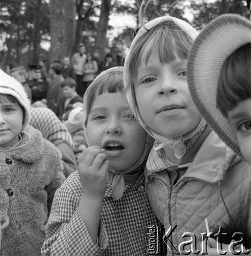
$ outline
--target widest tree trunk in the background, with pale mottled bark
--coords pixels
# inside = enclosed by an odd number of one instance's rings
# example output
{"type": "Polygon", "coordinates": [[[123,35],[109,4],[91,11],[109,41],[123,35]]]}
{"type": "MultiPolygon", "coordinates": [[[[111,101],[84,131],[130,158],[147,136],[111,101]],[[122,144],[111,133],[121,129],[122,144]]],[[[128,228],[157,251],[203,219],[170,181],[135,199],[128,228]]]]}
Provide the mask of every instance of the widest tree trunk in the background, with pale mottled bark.
{"type": "Polygon", "coordinates": [[[52,63],[71,55],[76,30],[75,0],[51,0],[51,49],[52,63]]]}

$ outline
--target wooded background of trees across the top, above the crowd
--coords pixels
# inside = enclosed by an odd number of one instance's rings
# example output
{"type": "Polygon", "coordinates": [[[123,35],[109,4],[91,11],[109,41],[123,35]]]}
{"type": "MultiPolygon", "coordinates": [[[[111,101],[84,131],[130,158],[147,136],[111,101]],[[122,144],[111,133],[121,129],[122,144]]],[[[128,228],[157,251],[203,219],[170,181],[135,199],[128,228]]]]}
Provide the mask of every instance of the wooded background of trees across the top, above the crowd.
{"type": "MultiPolygon", "coordinates": [[[[136,28],[125,28],[113,39],[114,51],[126,51],[139,25],[138,12],[142,0],[1,0],[0,2],[0,63],[16,61],[23,65],[48,56],[41,42],[51,43],[50,61],[77,51],[80,42],[87,49],[108,45],[107,31],[111,14],[129,14],[135,18],[136,28]],[[57,6],[57,8],[54,8],[57,6]],[[74,8],[73,8],[74,7],[74,8]],[[76,24],[75,24],[76,22],[76,24]]],[[[162,15],[185,18],[185,10],[193,13],[191,25],[203,28],[222,13],[238,13],[249,17],[246,1],[216,0],[153,0],[152,19],[156,11],[162,15]]],[[[43,45],[43,44],[42,44],[43,45]]]]}

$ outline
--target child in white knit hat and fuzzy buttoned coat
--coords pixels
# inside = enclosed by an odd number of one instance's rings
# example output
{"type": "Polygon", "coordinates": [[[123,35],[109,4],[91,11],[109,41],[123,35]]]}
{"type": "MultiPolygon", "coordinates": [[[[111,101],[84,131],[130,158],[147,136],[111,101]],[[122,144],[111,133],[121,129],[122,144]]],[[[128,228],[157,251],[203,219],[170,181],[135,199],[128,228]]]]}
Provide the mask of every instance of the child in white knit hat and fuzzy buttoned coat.
{"type": "Polygon", "coordinates": [[[64,182],[61,153],[29,125],[30,100],[0,70],[0,251],[41,255],[57,188],[64,182]]]}

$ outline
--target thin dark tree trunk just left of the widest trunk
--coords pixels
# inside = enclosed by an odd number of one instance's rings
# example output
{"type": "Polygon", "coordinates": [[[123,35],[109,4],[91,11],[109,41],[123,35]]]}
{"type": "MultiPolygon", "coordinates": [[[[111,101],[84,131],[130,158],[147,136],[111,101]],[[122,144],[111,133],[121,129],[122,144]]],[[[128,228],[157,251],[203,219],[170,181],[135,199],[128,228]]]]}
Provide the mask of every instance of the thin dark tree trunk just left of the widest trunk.
{"type": "Polygon", "coordinates": [[[36,64],[39,61],[39,49],[40,49],[40,20],[41,20],[41,0],[37,0],[37,9],[34,21],[33,32],[33,50],[32,50],[32,63],[36,64]]]}

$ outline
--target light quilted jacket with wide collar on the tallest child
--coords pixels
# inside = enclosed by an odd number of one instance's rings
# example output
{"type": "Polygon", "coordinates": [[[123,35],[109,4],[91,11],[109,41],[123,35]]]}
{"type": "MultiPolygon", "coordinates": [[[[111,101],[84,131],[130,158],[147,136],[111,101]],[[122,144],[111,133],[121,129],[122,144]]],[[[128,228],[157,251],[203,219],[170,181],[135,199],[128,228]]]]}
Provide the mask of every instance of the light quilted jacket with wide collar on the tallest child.
{"type": "MultiPolygon", "coordinates": [[[[178,172],[182,168],[178,166],[178,172]]],[[[192,252],[196,252],[195,245],[199,250],[201,233],[206,232],[205,218],[214,234],[216,227],[228,228],[232,224],[235,231],[244,231],[250,241],[251,166],[236,156],[214,131],[173,187],[168,169],[146,169],[145,175],[150,204],[165,225],[166,237],[171,233],[165,239],[168,255],[191,249],[191,245],[181,246],[191,240],[190,236],[183,236],[185,232],[193,233],[197,239],[196,243],[193,240],[192,252]]]]}

